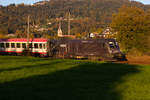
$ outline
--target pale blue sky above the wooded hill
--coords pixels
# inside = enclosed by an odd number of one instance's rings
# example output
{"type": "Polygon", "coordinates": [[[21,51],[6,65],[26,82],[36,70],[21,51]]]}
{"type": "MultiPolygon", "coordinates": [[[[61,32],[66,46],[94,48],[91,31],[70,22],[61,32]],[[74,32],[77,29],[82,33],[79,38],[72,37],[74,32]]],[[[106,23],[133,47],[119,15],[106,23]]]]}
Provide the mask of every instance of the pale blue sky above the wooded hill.
{"type": "MultiPolygon", "coordinates": [[[[9,4],[15,3],[15,4],[20,4],[20,3],[25,3],[25,4],[33,4],[35,2],[42,1],[42,0],[0,0],[0,5],[7,6],[9,4]]],[[[140,1],[144,4],[150,4],[150,0],[135,0],[135,1],[140,1]]]]}

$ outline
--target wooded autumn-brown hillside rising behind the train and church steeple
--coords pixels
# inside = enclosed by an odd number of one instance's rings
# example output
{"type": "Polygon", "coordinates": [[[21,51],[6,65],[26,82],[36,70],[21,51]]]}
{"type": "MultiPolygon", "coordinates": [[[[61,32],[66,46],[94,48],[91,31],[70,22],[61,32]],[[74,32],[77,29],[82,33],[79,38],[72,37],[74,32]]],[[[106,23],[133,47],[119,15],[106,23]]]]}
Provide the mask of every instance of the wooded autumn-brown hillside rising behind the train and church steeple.
{"type": "Polygon", "coordinates": [[[27,16],[30,15],[31,31],[35,26],[47,28],[49,35],[55,35],[58,18],[62,17],[62,30],[67,33],[67,16],[71,13],[71,34],[86,34],[105,28],[112,21],[112,14],[118,12],[122,5],[137,6],[147,10],[139,2],[128,0],[50,0],[44,5],[11,4],[0,7],[0,34],[26,33],[27,16]],[[50,24],[48,24],[50,23],[50,24]]]}

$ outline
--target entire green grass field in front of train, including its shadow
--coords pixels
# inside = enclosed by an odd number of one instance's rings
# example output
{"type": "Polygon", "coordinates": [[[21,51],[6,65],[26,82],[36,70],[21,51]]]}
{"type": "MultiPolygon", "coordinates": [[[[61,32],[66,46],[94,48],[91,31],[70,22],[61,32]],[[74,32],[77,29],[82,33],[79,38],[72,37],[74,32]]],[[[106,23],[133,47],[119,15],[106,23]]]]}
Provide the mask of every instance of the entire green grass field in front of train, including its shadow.
{"type": "Polygon", "coordinates": [[[150,65],[0,56],[0,100],[150,100],[150,65]]]}

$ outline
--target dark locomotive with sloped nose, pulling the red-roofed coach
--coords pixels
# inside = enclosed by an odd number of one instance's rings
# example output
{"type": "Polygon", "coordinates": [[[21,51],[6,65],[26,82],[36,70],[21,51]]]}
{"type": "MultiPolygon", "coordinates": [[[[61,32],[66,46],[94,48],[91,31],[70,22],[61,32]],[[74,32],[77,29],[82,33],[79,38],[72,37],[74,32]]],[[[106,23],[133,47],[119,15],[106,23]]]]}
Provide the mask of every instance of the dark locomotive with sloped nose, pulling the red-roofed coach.
{"type": "Polygon", "coordinates": [[[106,61],[127,60],[115,39],[61,39],[49,41],[49,56],[106,61]]]}

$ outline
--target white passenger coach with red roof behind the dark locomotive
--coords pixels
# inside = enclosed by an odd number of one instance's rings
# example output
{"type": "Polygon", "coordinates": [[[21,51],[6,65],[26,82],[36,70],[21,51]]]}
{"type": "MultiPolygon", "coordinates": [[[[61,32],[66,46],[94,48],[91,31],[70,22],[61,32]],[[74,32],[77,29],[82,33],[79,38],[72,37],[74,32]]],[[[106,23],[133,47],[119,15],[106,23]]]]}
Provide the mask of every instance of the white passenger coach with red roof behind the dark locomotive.
{"type": "MultiPolygon", "coordinates": [[[[32,55],[47,56],[48,39],[30,39],[29,50],[32,55]]],[[[21,55],[27,50],[27,39],[0,39],[0,54],[21,55]]]]}

